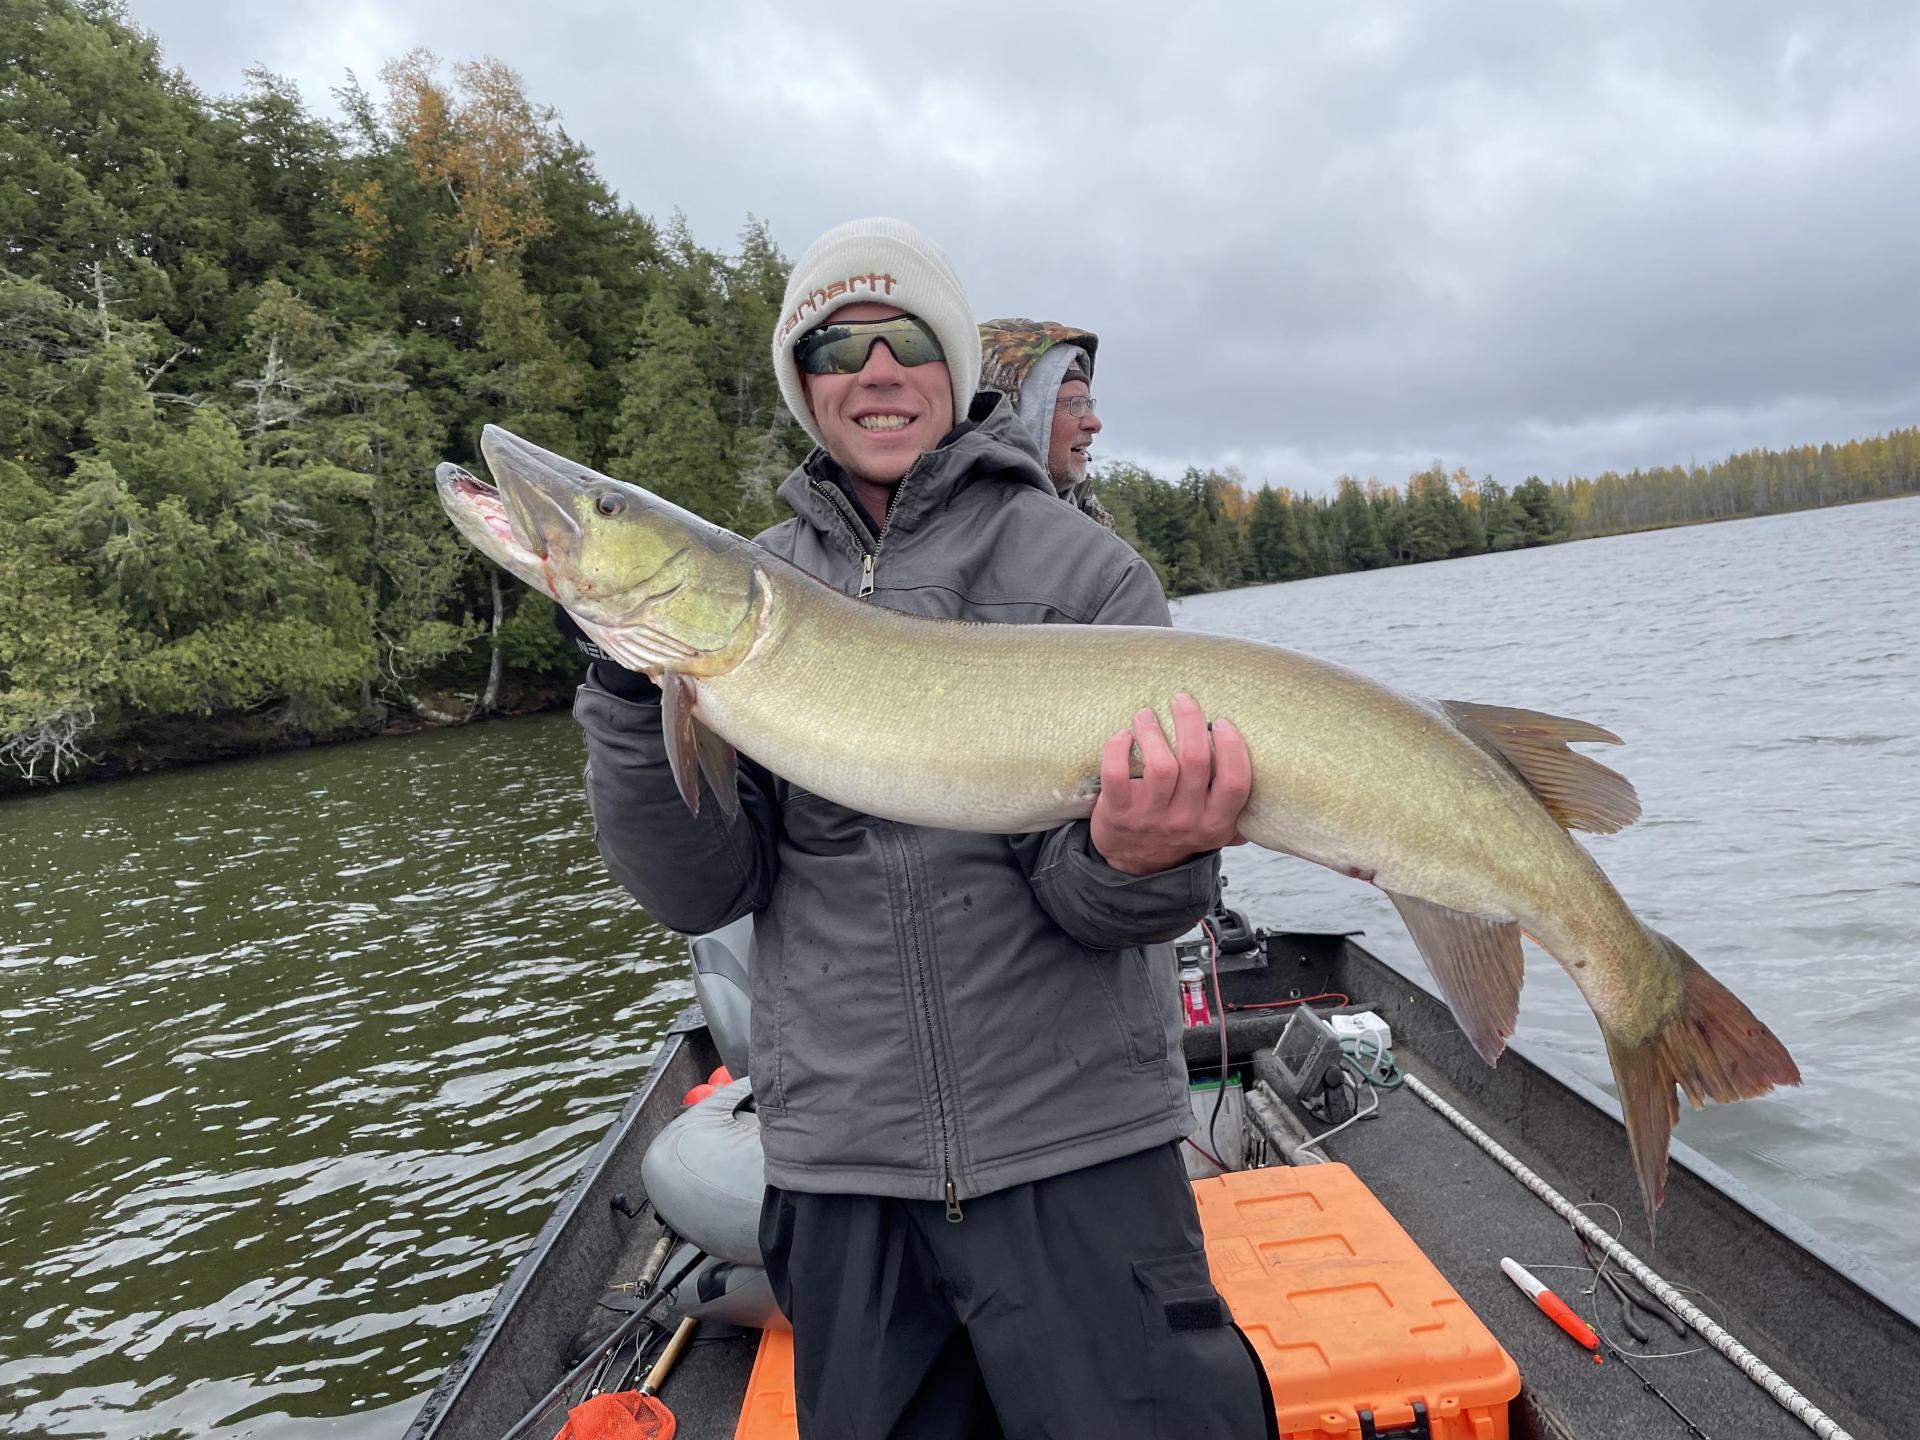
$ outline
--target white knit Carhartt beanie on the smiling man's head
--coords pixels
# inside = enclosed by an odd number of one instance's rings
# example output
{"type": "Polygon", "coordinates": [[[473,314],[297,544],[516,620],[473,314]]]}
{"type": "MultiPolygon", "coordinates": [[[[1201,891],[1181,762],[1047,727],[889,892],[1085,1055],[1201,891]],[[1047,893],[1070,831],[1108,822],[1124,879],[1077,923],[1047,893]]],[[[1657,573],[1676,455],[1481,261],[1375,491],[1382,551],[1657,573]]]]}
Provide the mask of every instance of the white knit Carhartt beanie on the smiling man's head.
{"type": "Polygon", "coordinates": [[[954,424],[966,419],[979,388],[979,328],[966,288],[947,252],[906,221],[874,217],[835,225],[814,240],[787,276],[787,296],[774,324],[774,374],[793,419],[824,445],[801,386],[793,346],[841,305],[876,301],[918,317],[947,351],[954,384],[954,424]]]}

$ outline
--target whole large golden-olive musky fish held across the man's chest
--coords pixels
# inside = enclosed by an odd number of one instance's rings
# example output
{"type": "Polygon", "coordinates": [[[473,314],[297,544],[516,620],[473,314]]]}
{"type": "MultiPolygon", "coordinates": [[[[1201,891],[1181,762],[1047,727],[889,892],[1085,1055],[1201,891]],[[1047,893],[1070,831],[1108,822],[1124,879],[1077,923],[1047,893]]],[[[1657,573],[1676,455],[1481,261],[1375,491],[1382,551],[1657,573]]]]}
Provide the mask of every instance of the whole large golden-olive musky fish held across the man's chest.
{"type": "Polygon", "coordinates": [[[1496,1062],[1521,998],[1521,933],[1572,975],[1607,1039],[1651,1223],[1695,1106],[1797,1085],[1786,1046],[1644,925],[1569,828],[1640,803],[1532,710],[1402,695],[1250,639],[1140,626],[998,626],[899,614],[829,589],[639,486],[488,426],[497,490],[440,467],[484,555],[551,595],[664,693],[687,804],[737,804],[733,753],[868,814],[1044,829],[1092,810],[1100,747],[1175,691],[1246,735],[1240,833],[1386,891],[1475,1048],[1496,1062]]]}

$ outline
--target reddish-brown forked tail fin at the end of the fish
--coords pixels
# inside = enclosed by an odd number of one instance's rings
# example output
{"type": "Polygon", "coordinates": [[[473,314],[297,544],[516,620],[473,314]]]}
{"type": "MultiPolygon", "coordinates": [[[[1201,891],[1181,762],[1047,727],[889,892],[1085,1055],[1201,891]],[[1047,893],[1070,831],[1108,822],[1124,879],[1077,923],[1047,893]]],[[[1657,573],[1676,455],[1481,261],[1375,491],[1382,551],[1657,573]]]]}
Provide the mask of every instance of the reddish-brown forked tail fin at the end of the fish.
{"type": "Polygon", "coordinates": [[[1620,1087],[1626,1142],[1651,1233],[1653,1212],[1667,1198],[1667,1148],[1680,1119],[1674,1087],[1699,1110],[1707,1100],[1747,1100],[1776,1085],[1799,1085],[1801,1075],[1788,1048],[1738,995],[1657,929],[1647,935],[1680,972],[1680,1008],[1640,1043],[1605,1025],[1601,1033],[1620,1087]]]}

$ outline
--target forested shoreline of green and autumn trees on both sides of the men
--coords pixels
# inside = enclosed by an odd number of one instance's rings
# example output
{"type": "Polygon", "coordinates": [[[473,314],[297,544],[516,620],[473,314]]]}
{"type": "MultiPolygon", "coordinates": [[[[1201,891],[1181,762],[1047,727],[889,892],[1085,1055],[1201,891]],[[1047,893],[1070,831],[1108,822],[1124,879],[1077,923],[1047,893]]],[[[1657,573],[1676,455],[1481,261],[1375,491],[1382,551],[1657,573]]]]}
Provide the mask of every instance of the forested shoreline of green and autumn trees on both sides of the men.
{"type": "MultiPolygon", "coordinates": [[[[564,695],[547,601],[434,501],[486,420],[778,518],[766,225],[620,204],[503,65],[403,56],[332,123],[198,94],[111,0],[13,0],[0,54],[0,787],[564,695]]],[[[1511,493],[1100,478],[1175,593],[1916,488],[1910,430],[1511,493]]]]}

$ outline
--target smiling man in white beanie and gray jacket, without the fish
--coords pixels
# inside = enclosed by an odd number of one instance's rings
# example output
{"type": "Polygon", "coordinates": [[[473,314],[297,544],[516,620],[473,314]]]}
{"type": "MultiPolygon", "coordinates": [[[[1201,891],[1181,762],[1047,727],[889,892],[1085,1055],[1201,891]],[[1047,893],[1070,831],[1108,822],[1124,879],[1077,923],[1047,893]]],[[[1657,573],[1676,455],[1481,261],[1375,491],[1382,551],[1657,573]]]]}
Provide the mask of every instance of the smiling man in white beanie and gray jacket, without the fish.
{"type": "MultiPolygon", "coordinates": [[[[843,225],[781,311],[781,394],[820,447],[760,545],[910,614],[1169,624],[1146,563],[1060,503],[1004,396],[975,394],[979,332],[937,246],[843,225]]],[[[881,820],[745,758],[737,806],[693,814],[659,687],[611,657],[576,714],[614,876],[674,929],[755,916],[760,1240],[803,1436],[1265,1434],[1177,1152],[1167,954],[1236,839],[1240,733],[1175,695],[1169,743],[1140,708],[1087,820],[998,835],[881,820]]],[[[843,716],[858,733],[858,689],[843,716]]]]}

